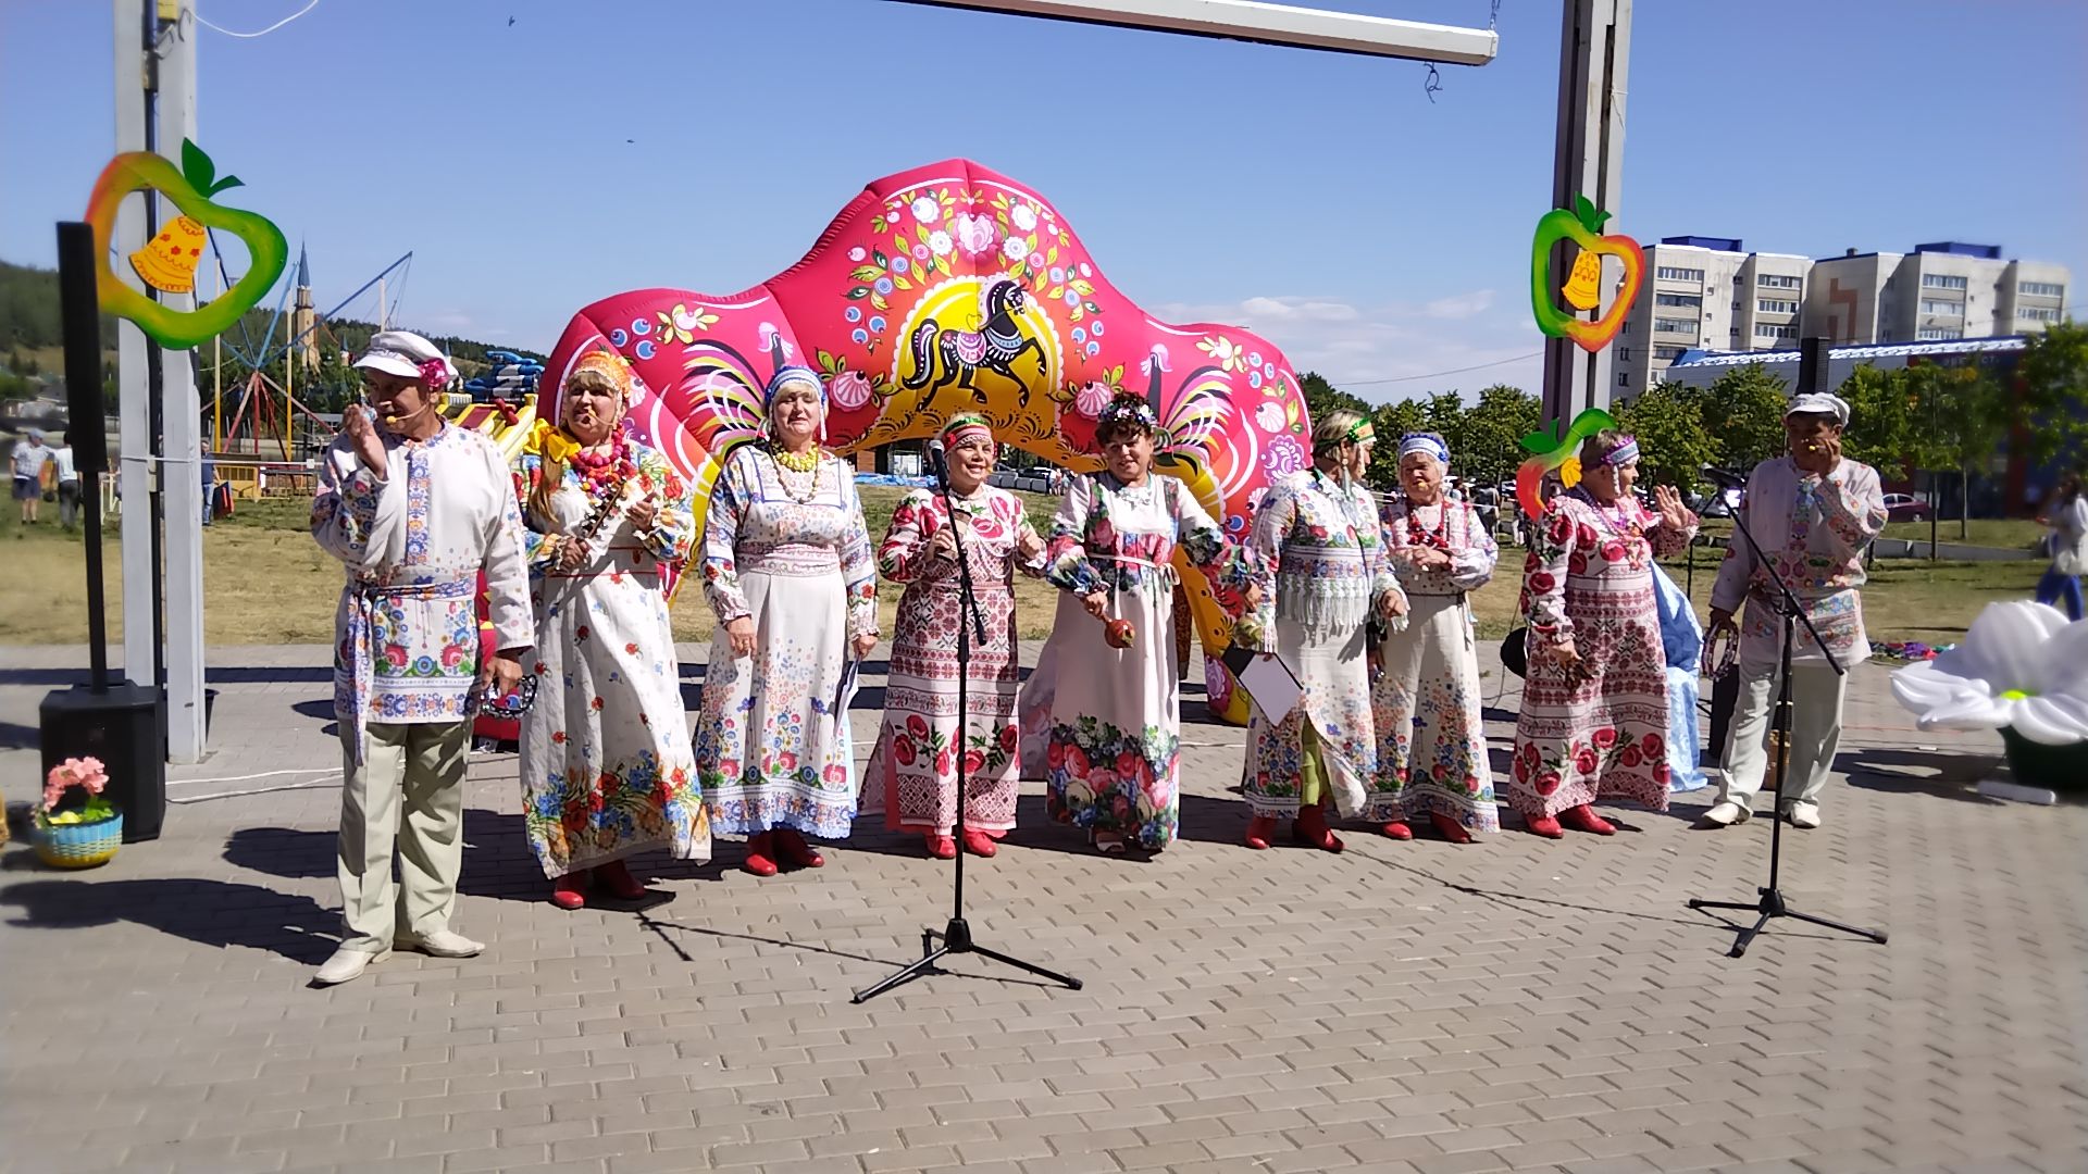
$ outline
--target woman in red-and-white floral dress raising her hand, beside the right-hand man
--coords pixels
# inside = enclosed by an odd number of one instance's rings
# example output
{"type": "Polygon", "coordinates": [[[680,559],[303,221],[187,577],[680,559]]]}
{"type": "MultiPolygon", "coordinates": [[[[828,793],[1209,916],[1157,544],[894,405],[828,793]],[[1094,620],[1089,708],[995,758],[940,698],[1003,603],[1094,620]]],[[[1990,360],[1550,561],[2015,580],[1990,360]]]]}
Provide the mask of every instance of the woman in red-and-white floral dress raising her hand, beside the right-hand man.
{"type": "MultiPolygon", "coordinates": [[[[1616,831],[1589,806],[1668,808],[1668,683],[1652,560],[1683,549],[1698,516],[1666,485],[1647,514],[1631,487],[1639,443],[1601,430],[1581,483],[1545,508],[1522,568],[1528,677],[1508,802],[1537,836],[1616,831]]],[[[1572,480],[1568,470],[1566,480],[1572,480]]]]}

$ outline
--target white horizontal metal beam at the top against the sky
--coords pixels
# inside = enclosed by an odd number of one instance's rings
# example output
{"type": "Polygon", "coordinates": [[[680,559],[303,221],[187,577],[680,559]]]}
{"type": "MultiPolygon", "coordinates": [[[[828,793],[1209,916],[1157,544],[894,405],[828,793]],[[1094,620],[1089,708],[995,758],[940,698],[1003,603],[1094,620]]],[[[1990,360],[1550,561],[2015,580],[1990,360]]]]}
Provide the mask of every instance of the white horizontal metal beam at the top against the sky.
{"type": "Polygon", "coordinates": [[[1324,52],[1405,56],[1443,65],[1487,65],[1499,52],[1493,29],[1424,25],[1361,13],[1330,13],[1261,0],[900,0],[935,8],[977,8],[1201,38],[1226,38],[1324,52]]]}

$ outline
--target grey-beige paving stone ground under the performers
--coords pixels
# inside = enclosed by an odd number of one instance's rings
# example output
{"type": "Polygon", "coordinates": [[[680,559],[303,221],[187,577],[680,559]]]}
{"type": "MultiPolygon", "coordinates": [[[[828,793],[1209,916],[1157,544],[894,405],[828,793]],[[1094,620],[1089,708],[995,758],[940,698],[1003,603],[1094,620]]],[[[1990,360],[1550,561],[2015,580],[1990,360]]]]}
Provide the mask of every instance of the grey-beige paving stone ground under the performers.
{"type": "MultiPolygon", "coordinates": [[[[1856,673],[1848,781],[1746,959],[1769,821],[1612,840],[1238,846],[1240,731],[1184,729],[1184,842],[1105,859],[1023,796],[967,867],[979,957],[867,1005],[950,865],[864,825],[818,871],[645,856],[670,900],[564,913],[512,756],[472,765],[457,928],[315,990],[334,944],[326,648],[219,648],[215,754],[104,869],[0,850],[0,1172],[2088,1170],[2088,808],[1982,800],[1998,739],[1919,735],[1856,673]]],[[[685,648],[693,700],[704,648],[685,648]]],[[[79,648],[0,650],[0,792],[79,648]]],[[[881,668],[881,664],[879,664],[881,668]]],[[[1489,675],[1489,689],[1499,673],[1489,675]]],[[[873,675],[854,714],[869,746],[873,675]]],[[[1514,681],[1489,717],[1505,748],[1514,681]]],[[[19,831],[19,821],[17,821],[19,831]]]]}

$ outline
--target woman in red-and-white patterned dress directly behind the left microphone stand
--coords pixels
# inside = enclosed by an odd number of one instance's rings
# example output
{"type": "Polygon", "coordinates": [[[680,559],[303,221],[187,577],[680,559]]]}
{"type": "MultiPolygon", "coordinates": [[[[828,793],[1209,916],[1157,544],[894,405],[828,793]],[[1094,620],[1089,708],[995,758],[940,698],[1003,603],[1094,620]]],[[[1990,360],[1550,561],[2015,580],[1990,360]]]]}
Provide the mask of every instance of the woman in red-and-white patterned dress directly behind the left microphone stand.
{"type": "MultiPolygon", "coordinates": [[[[915,489],[898,510],[877,568],[904,583],[892,633],[885,721],[862,785],[862,813],[915,831],[927,854],[956,856],[956,785],[965,779],[965,850],[992,856],[1015,827],[1017,733],[1015,572],[1044,554],[1023,499],[986,485],[1000,447],[983,416],[963,414],[942,430],[950,462],[950,503],[915,489]],[[956,637],[971,623],[960,608],[958,549],[971,566],[986,639],[971,633],[967,714],[956,708],[956,637]],[[963,727],[963,729],[960,729],[963,727]]],[[[1031,570],[1034,574],[1034,570],[1031,570]]]]}

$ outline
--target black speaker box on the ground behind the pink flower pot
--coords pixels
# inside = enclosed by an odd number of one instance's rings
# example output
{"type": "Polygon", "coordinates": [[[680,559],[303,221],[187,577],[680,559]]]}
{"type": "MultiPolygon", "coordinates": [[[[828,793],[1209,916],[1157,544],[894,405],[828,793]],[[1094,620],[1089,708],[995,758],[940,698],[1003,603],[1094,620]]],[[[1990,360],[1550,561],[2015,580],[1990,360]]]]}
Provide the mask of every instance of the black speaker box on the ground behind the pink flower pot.
{"type": "Polygon", "coordinates": [[[100,758],[104,796],[123,813],[123,842],[159,840],[167,821],[167,706],[157,689],[88,685],[54,689],[38,706],[44,773],[67,758],[100,758]]]}

